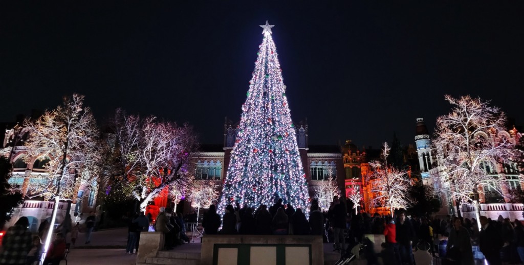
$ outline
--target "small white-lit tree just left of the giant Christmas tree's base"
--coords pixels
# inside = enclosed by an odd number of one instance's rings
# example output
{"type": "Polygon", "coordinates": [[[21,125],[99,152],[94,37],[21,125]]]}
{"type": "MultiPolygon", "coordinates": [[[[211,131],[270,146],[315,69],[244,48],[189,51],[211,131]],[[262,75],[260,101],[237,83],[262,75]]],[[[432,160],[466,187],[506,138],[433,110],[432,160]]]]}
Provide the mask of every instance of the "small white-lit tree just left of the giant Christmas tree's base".
{"type": "Polygon", "coordinates": [[[200,208],[209,208],[211,204],[219,199],[219,191],[216,189],[215,181],[195,180],[189,188],[189,200],[191,206],[197,209],[196,222],[200,217],[200,208]]]}

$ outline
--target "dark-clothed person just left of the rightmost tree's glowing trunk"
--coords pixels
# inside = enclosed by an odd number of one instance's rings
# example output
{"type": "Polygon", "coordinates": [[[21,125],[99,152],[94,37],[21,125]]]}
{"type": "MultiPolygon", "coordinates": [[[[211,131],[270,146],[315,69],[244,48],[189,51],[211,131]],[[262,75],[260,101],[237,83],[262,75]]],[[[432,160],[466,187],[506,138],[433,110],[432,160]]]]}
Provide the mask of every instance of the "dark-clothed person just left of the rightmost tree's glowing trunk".
{"type": "Polygon", "coordinates": [[[473,249],[471,247],[471,236],[467,228],[462,226],[459,217],[453,218],[453,229],[447,239],[447,256],[455,261],[455,264],[473,265],[473,249]]]}

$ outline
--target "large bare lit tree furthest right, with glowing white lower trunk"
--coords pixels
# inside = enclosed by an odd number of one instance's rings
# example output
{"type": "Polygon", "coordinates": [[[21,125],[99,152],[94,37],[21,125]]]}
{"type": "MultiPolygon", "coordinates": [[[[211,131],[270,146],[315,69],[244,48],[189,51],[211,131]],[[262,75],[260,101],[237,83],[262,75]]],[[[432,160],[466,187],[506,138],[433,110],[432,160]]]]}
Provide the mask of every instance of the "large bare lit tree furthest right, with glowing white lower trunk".
{"type": "MultiPolygon", "coordinates": [[[[438,151],[442,174],[437,181],[447,199],[471,203],[479,221],[479,192],[486,189],[503,194],[507,181],[496,172],[487,172],[507,162],[512,144],[504,134],[506,116],[489,101],[463,96],[445,99],[451,103],[449,114],[436,121],[435,149],[438,151]]],[[[479,224],[478,227],[481,227],[479,224]]]]}

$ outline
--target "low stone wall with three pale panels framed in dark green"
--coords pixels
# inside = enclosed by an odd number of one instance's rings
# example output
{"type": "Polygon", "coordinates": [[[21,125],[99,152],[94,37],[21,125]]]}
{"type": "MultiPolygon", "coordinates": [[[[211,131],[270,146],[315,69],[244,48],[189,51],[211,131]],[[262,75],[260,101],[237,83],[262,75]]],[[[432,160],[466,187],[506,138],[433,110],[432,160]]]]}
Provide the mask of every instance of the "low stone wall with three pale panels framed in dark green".
{"type": "Polygon", "coordinates": [[[324,264],[321,236],[204,235],[201,265],[324,264]]]}

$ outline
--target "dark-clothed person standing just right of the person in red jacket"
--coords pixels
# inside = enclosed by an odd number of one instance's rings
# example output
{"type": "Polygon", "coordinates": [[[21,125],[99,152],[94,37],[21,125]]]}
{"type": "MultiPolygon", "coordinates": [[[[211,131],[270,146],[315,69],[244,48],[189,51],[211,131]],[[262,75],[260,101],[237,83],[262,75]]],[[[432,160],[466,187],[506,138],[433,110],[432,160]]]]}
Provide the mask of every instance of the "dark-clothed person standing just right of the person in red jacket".
{"type": "Polygon", "coordinates": [[[409,265],[413,264],[413,238],[415,232],[405,212],[400,212],[398,215],[398,222],[396,226],[396,240],[400,252],[402,262],[407,262],[409,265]]]}

